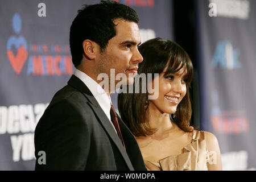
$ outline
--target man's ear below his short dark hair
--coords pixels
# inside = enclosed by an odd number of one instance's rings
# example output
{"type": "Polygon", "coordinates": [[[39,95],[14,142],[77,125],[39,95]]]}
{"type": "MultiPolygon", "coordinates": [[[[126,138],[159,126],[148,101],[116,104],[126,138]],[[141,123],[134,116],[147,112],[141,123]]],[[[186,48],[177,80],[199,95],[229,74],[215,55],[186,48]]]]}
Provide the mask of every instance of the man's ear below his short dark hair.
{"type": "Polygon", "coordinates": [[[100,46],[96,42],[93,42],[92,40],[86,39],[84,42],[82,42],[82,47],[84,48],[84,54],[85,56],[92,60],[95,59],[98,53],[98,49],[100,46]]]}

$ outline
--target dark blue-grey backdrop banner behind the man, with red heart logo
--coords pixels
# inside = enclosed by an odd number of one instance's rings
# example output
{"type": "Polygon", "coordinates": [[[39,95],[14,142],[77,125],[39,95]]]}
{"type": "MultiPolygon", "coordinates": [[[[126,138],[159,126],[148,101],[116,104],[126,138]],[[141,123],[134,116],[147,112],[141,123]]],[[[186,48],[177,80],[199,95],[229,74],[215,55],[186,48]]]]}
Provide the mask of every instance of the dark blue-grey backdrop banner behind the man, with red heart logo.
{"type": "MultiPolygon", "coordinates": [[[[34,130],[75,71],[69,28],[95,0],[0,0],[0,170],[34,170],[34,130]]],[[[172,1],[119,1],[137,11],[142,42],[172,39],[172,1]]],[[[117,109],[117,94],[112,102],[117,109]]]]}

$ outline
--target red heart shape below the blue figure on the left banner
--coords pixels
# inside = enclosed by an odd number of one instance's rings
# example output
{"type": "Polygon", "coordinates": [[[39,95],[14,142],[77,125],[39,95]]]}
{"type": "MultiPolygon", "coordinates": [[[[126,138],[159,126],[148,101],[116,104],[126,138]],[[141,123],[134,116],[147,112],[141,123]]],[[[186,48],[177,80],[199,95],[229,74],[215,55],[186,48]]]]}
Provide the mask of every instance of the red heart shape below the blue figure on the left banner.
{"type": "Polygon", "coordinates": [[[16,57],[14,56],[13,51],[11,50],[7,51],[7,55],[11,62],[11,65],[13,66],[14,71],[19,75],[20,71],[23,68],[24,63],[27,60],[28,52],[22,45],[19,47],[16,57]]]}

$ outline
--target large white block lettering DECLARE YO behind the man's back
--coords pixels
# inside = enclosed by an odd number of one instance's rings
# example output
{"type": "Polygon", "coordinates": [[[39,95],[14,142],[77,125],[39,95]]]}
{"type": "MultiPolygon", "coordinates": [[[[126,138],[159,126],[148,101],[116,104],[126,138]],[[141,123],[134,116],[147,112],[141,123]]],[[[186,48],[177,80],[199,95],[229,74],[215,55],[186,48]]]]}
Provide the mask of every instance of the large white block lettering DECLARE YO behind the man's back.
{"type": "Polygon", "coordinates": [[[34,131],[47,104],[0,106],[0,137],[10,134],[13,162],[35,159],[34,131]]]}

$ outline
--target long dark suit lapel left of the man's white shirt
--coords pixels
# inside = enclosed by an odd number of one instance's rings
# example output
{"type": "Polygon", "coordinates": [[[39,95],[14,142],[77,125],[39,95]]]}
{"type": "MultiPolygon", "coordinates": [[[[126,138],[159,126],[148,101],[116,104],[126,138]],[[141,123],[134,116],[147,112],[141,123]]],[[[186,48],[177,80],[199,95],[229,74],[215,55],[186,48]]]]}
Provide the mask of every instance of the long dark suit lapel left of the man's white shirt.
{"type": "Polygon", "coordinates": [[[114,127],[111,125],[108,117],[106,116],[104,111],[101,109],[100,105],[98,105],[96,98],[93,97],[92,92],[90,92],[90,90],[84,84],[84,82],[82,82],[79,78],[77,78],[74,75],[72,75],[72,77],[69,79],[68,84],[73,86],[76,89],[79,89],[84,94],[84,96],[88,99],[89,101],[88,103],[92,107],[96,116],[98,117],[98,121],[100,121],[106,133],[108,133],[110,138],[113,140],[113,142],[117,146],[118,150],[123,156],[123,159],[125,159],[127,166],[129,167],[130,170],[134,170],[133,165],[131,164],[129,156],[126,153],[121,140],[119,139],[117,133],[115,132],[114,127]]]}

